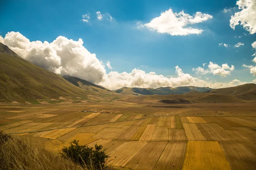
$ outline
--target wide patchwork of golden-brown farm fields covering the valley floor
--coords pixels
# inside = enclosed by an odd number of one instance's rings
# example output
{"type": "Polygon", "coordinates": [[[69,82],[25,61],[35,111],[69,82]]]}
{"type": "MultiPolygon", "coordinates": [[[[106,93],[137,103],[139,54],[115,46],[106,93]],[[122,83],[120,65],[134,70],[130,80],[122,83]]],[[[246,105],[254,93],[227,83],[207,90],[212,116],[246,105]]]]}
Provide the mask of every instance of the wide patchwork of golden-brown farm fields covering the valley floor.
{"type": "Polygon", "coordinates": [[[102,144],[128,169],[256,169],[255,103],[67,102],[0,104],[0,130],[53,152],[102,144]]]}

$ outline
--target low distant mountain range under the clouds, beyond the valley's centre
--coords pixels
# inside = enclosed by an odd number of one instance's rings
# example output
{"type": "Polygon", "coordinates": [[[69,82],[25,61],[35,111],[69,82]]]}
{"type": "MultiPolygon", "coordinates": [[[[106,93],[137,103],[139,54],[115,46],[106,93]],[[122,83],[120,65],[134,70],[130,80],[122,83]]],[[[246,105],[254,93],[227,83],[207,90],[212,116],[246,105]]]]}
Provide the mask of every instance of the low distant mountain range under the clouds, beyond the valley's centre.
{"type": "Polygon", "coordinates": [[[114,92],[124,95],[169,95],[169,94],[185,94],[190,91],[198,91],[201,93],[212,90],[212,88],[208,87],[195,87],[195,86],[185,86],[185,87],[161,87],[161,88],[119,88],[114,90],[114,92]]]}

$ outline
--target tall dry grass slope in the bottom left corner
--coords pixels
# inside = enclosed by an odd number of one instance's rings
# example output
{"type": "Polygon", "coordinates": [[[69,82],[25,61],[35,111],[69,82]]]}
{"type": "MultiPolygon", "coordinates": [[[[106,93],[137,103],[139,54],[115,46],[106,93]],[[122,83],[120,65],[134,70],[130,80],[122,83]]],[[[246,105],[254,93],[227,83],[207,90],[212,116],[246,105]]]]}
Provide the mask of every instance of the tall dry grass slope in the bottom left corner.
{"type": "Polygon", "coordinates": [[[1,170],[83,170],[70,160],[43,147],[20,141],[0,132],[1,170]]]}

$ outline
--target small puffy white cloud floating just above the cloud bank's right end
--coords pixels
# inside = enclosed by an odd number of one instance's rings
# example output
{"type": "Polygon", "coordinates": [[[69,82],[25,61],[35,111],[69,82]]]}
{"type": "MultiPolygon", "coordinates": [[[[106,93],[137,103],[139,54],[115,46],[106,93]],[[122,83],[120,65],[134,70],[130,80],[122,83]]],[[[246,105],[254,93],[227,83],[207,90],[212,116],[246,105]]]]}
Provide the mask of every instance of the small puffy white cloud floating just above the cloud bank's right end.
{"type": "Polygon", "coordinates": [[[208,68],[209,69],[198,67],[198,68],[193,68],[192,71],[195,71],[195,74],[213,74],[213,75],[219,75],[221,77],[226,77],[227,75],[230,75],[230,72],[235,69],[235,66],[231,65],[230,67],[227,64],[222,64],[220,66],[213,62],[209,62],[208,68]]]}

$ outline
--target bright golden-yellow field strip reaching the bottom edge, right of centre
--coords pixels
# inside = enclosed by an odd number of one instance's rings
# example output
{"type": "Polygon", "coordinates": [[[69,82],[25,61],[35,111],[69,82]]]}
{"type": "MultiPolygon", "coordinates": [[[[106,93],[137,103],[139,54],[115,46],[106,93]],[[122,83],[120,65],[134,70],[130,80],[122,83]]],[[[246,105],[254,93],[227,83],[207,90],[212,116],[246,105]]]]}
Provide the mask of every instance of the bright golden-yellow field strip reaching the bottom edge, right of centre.
{"type": "Polygon", "coordinates": [[[189,141],[182,170],[231,170],[218,142],[189,141]]]}

